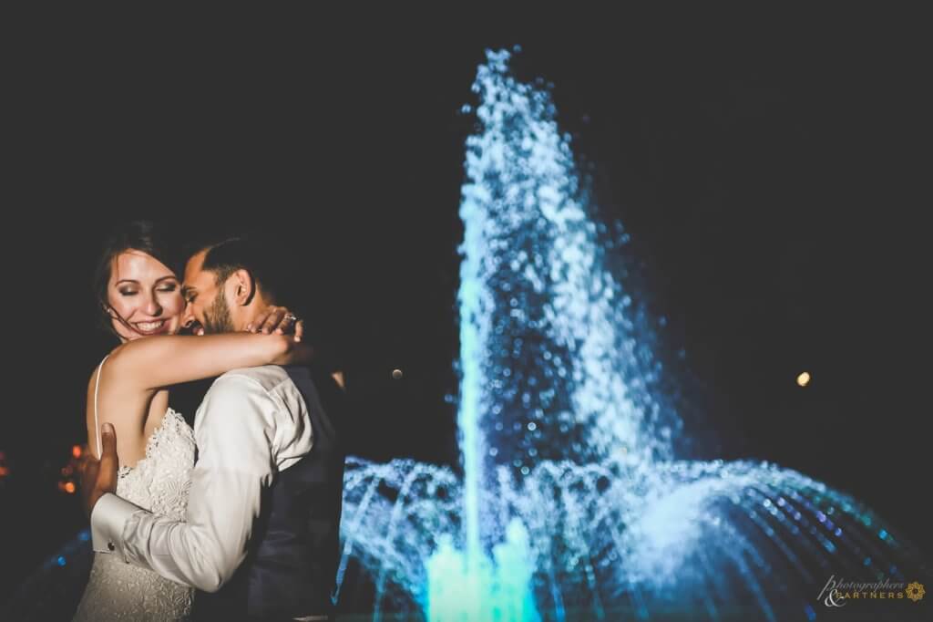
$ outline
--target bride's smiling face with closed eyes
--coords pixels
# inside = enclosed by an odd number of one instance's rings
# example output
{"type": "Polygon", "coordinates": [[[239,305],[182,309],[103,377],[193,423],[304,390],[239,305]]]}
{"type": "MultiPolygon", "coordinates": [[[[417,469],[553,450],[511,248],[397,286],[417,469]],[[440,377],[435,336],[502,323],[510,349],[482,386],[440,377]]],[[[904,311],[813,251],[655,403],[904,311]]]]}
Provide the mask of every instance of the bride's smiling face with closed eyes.
{"type": "Polygon", "coordinates": [[[140,250],[127,250],[114,258],[107,283],[107,302],[110,321],[122,341],[174,334],[185,310],[177,276],[140,250]],[[115,314],[123,321],[115,318],[115,314]]]}

